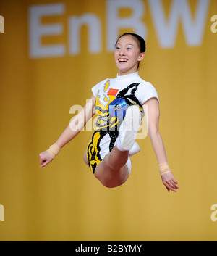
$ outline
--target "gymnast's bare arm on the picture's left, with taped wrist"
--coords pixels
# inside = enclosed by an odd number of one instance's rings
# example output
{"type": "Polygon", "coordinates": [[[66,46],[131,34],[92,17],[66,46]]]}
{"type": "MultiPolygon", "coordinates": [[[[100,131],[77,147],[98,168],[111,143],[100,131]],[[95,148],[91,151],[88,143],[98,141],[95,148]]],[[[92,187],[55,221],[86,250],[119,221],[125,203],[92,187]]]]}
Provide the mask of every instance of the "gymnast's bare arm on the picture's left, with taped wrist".
{"type": "Polygon", "coordinates": [[[71,120],[64,132],[61,133],[61,136],[56,143],[50,146],[46,151],[39,154],[40,168],[48,165],[48,163],[56,157],[56,154],[59,153],[60,149],[69,141],[72,141],[72,139],[82,131],[82,128],[85,127],[86,123],[91,117],[93,117],[93,115],[95,115],[95,96],[92,96],[85,107],[83,107],[82,110],[71,120]]]}

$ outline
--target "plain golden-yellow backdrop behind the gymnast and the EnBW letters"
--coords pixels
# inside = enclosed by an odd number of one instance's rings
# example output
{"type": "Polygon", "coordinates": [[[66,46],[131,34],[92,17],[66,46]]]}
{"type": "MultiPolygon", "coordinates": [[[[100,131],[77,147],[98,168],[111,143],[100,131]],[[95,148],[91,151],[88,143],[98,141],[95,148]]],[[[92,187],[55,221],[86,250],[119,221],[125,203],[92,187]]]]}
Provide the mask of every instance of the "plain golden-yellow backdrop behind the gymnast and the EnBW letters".
{"type": "MultiPolygon", "coordinates": [[[[29,54],[28,8],[59,1],[1,1],[0,241],[216,241],[210,207],[217,203],[217,33],[210,31],[210,18],[217,2],[210,0],[203,43],[187,46],[179,25],[171,49],[159,46],[143,2],[149,33],[139,73],[158,91],[161,136],[180,191],[168,193],[161,183],[149,138],[138,140],[132,174],[115,189],[103,187],[82,160],[92,131],[82,131],[39,168],[38,154],[69,124],[70,107],[84,105],[92,86],[116,76],[113,53],[106,50],[106,1],[62,0],[64,15],[43,20],[64,25],[61,36],[43,38],[43,44],[68,49],[68,18],[94,13],[103,26],[100,53],[88,52],[82,28],[80,54],[67,50],[64,57],[38,59],[29,54]]],[[[168,13],[171,1],[163,4],[168,13]]],[[[190,4],[194,15],[197,1],[190,4]]]]}

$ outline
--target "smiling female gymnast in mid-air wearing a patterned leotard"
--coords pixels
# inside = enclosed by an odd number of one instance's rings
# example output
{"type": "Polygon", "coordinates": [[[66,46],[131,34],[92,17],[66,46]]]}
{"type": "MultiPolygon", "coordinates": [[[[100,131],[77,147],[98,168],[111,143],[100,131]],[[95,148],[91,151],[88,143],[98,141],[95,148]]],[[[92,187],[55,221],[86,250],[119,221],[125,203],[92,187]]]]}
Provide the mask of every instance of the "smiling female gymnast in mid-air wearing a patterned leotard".
{"type": "Polygon", "coordinates": [[[135,142],[142,119],[142,107],[147,106],[148,135],[158,160],[163,184],[168,191],[179,189],[167,163],[166,152],[158,131],[159,100],[156,89],[137,73],[145,57],[145,41],[135,33],[124,33],[115,44],[114,59],[118,75],[92,88],[93,96],[70,122],[59,139],[39,154],[41,168],[48,165],[60,149],[75,138],[93,115],[98,119],[92,139],[84,154],[85,163],[108,188],[122,185],[131,172],[130,156],[140,151],[135,142]]]}

